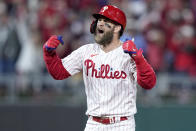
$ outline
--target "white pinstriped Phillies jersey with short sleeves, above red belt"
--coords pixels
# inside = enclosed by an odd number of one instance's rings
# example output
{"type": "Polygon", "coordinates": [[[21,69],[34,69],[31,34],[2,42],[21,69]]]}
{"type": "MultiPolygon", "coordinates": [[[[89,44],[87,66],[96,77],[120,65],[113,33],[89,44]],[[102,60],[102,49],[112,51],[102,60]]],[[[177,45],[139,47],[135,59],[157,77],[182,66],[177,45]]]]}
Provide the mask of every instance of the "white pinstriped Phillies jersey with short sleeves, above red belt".
{"type": "Polygon", "coordinates": [[[132,116],[136,113],[136,66],[122,46],[105,53],[87,44],[62,59],[74,75],[83,71],[87,96],[86,115],[132,116]]]}

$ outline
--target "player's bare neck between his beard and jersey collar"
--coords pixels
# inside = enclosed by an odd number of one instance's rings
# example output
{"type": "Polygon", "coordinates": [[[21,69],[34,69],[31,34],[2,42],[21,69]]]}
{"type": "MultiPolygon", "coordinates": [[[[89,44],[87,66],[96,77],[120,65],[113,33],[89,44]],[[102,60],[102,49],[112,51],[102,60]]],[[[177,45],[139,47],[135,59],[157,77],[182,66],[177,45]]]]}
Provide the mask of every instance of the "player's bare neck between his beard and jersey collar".
{"type": "Polygon", "coordinates": [[[101,49],[104,51],[104,52],[110,52],[116,48],[118,48],[119,46],[121,46],[122,43],[120,41],[120,39],[116,38],[116,39],[113,39],[109,44],[107,44],[106,46],[101,46],[101,49]]]}

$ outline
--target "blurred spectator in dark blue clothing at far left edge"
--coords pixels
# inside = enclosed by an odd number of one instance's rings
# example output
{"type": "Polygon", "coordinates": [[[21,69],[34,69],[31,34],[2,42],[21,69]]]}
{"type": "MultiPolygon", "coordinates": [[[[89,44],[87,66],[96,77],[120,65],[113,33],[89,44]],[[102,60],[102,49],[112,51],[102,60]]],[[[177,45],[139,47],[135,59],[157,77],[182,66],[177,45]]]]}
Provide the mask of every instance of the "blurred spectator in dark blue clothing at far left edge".
{"type": "Polygon", "coordinates": [[[21,45],[15,21],[9,16],[7,6],[0,2],[0,72],[13,73],[21,45]]]}

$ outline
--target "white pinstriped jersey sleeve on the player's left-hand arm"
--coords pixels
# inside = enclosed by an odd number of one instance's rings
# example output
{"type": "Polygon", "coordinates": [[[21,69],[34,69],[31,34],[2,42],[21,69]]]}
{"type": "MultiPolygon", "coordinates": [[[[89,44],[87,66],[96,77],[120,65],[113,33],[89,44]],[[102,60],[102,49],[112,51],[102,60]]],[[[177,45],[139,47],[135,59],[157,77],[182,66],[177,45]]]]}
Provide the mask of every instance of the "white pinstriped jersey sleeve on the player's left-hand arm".
{"type": "Polygon", "coordinates": [[[71,75],[74,75],[82,70],[84,53],[86,51],[86,48],[87,45],[81,46],[67,57],[61,59],[64,68],[71,75]]]}

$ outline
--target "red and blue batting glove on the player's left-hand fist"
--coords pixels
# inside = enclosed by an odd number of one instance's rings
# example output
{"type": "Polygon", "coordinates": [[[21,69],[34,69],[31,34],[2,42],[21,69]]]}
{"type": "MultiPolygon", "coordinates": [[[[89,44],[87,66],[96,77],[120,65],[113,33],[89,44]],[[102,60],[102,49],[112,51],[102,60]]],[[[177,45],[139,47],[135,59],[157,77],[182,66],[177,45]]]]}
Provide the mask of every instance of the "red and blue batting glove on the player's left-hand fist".
{"type": "Polygon", "coordinates": [[[52,51],[55,50],[60,43],[64,44],[62,36],[53,35],[48,39],[48,41],[46,41],[46,43],[44,44],[44,48],[47,51],[52,51]]]}

